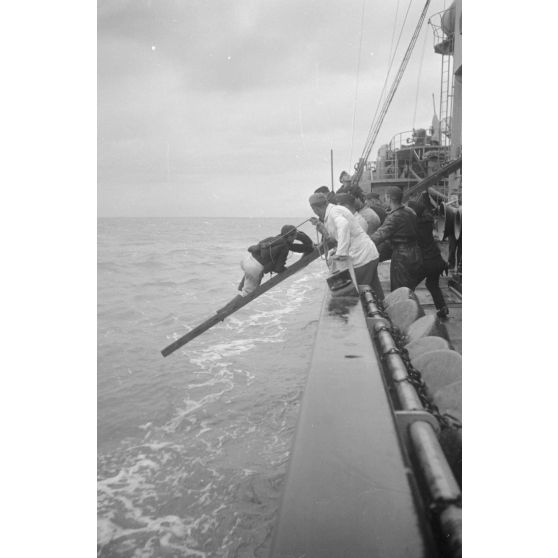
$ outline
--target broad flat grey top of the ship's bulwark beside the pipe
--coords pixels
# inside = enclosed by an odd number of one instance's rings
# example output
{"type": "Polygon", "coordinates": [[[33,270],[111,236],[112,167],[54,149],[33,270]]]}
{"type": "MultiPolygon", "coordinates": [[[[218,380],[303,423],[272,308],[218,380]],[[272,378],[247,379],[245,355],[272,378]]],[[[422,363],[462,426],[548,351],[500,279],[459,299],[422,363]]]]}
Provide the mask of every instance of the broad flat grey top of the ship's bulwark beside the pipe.
{"type": "Polygon", "coordinates": [[[360,301],[326,294],[273,558],[432,558],[360,301]]]}

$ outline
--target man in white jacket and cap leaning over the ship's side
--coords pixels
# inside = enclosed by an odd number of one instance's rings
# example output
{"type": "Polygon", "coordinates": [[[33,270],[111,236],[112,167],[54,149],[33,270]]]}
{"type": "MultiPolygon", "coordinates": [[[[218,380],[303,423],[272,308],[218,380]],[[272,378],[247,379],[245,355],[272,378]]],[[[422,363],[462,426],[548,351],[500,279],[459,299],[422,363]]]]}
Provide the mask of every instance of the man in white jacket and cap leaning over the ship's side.
{"type": "Polygon", "coordinates": [[[319,220],[313,217],[312,224],[324,236],[337,241],[332,259],[341,267],[346,267],[350,261],[357,283],[370,285],[378,299],[383,300],[384,292],[378,278],[378,250],[353,214],[346,207],[328,203],[324,194],[313,194],[309,202],[312,211],[319,217],[319,220]]]}

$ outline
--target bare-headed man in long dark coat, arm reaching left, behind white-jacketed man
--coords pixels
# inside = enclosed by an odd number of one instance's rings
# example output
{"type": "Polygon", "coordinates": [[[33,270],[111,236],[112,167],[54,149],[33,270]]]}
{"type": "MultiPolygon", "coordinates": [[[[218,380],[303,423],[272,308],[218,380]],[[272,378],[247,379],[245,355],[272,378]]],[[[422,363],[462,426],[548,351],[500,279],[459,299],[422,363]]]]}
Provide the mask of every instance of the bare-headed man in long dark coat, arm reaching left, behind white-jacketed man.
{"type": "Polygon", "coordinates": [[[389,241],[391,254],[391,290],[408,287],[414,290],[422,271],[422,255],[417,242],[417,217],[401,202],[403,192],[397,186],[387,190],[390,212],[380,228],[370,236],[376,246],[389,241]]]}

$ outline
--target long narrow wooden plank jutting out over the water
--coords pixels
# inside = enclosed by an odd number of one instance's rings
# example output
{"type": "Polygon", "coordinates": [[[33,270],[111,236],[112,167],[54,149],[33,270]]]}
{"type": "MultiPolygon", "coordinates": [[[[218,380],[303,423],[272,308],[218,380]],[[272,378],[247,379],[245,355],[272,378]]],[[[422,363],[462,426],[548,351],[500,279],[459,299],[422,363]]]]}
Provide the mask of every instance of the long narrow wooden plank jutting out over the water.
{"type": "Polygon", "coordinates": [[[190,341],[192,341],[192,339],[198,337],[198,335],[201,335],[208,329],[212,328],[214,325],[218,324],[219,322],[222,322],[225,318],[227,318],[231,314],[234,314],[234,312],[236,312],[243,306],[246,306],[249,302],[252,302],[255,298],[258,298],[266,291],[269,291],[269,289],[275,287],[275,285],[278,285],[279,283],[281,283],[291,275],[295,274],[297,271],[304,269],[308,264],[316,260],[322,252],[323,250],[321,246],[314,248],[313,252],[310,252],[309,254],[305,254],[304,256],[302,256],[294,264],[291,264],[289,267],[287,267],[287,269],[283,271],[283,273],[275,275],[275,277],[272,277],[271,279],[266,281],[263,285],[260,285],[254,292],[250,293],[248,296],[245,296],[242,300],[239,300],[235,304],[232,304],[229,308],[227,308],[223,312],[219,312],[218,314],[215,314],[215,316],[211,316],[211,318],[208,318],[207,320],[202,322],[199,326],[195,327],[192,331],[189,331],[186,335],[183,335],[180,339],[177,339],[176,341],[171,343],[168,347],[165,347],[161,351],[161,354],[164,357],[166,357],[171,353],[173,353],[174,351],[176,351],[176,349],[179,349],[186,343],[189,343],[190,341]]]}

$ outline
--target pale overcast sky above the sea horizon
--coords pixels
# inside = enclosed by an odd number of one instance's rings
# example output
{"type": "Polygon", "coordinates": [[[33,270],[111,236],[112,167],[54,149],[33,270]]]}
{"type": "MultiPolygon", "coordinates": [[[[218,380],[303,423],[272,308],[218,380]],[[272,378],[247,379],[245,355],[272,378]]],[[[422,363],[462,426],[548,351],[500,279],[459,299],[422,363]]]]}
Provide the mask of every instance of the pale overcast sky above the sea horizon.
{"type": "MultiPolygon", "coordinates": [[[[388,89],[424,4],[99,0],[98,215],[306,215],[330,150],[336,187],[362,153],[390,50],[403,29],[388,89]]],[[[372,159],[432,122],[427,21],[449,4],[430,3],[372,159]]]]}

